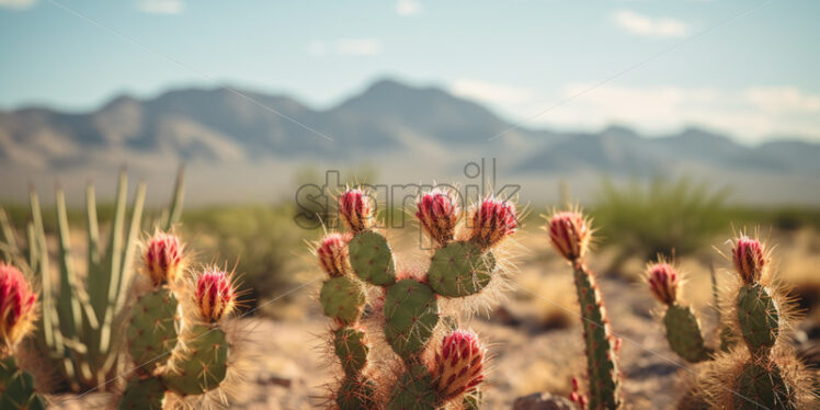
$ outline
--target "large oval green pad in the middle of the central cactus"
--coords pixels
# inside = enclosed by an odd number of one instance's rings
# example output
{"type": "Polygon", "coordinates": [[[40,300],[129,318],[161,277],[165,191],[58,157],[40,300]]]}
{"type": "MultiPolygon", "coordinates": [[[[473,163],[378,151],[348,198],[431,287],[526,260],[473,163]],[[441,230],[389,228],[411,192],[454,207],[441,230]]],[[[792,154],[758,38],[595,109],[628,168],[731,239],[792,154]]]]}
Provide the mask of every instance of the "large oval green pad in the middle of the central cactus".
{"type": "Polygon", "coordinates": [[[433,289],[415,280],[401,280],[387,289],[384,312],[387,342],[405,358],[424,350],[439,323],[433,289]]]}

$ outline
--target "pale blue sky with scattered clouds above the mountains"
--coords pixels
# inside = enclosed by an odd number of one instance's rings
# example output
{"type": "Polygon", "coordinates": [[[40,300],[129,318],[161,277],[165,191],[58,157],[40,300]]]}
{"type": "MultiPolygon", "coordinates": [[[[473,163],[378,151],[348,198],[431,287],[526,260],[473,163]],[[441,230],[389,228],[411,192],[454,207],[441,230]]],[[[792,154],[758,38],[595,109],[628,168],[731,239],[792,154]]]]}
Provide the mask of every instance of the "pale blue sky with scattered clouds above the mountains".
{"type": "Polygon", "coordinates": [[[0,110],[390,77],[527,127],[820,141],[817,0],[0,0],[0,110]]]}

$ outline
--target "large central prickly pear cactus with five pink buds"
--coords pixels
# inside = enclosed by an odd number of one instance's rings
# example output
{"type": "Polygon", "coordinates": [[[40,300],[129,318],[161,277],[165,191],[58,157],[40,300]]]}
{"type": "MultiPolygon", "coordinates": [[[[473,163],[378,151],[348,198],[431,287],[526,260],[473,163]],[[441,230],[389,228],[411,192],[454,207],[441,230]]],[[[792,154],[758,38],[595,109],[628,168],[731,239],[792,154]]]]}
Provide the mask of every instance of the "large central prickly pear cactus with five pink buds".
{"type": "Polygon", "coordinates": [[[444,300],[480,295],[500,281],[501,252],[494,250],[517,229],[515,206],[488,197],[459,227],[460,206],[452,191],[421,195],[415,215],[435,247],[419,274],[397,267],[390,244],[374,227],[367,192],[349,189],[338,201],[349,232],[329,234],[316,249],[328,274],[319,301],[333,319],[330,344],[343,369],[331,407],[478,409],[487,350],[476,333],[457,329],[459,312],[448,311],[444,305],[452,304],[444,300]],[[380,329],[366,327],[364,316],[380,329]],[[378,360],[398,356],[395,364],[374,364],[380,340],[395,355],[378,360]]]}

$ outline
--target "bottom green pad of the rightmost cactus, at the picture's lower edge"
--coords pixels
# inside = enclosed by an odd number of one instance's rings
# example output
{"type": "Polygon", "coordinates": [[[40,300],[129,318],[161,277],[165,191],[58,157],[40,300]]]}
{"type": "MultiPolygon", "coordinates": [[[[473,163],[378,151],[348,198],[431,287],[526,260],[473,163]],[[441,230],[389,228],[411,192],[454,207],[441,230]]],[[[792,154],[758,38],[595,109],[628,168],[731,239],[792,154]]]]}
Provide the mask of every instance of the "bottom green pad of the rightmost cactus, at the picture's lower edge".
{"type": "Polygon", "coordinates": [[[797,410],[794,390],[783,380],[779,368],[747,363],[738,376],[734,409],[797,410]]]}

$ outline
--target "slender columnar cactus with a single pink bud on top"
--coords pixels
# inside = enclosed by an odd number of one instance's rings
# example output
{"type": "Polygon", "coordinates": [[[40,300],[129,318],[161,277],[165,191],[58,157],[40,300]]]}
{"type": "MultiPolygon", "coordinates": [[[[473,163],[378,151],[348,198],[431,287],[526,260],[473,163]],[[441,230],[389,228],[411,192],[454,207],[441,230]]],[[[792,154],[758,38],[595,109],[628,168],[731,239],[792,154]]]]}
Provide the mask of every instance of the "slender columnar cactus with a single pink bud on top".
{"type": "Polygon", "coordinates": [[[586,353],[589,407],[593,410],[619,409],[623,400],[616,339],[610,329],[595,275],[583,262],[592,230],[584,216],[574,210],[554,213],[547,225],[553,246],[572,266],[586,353]]]}

